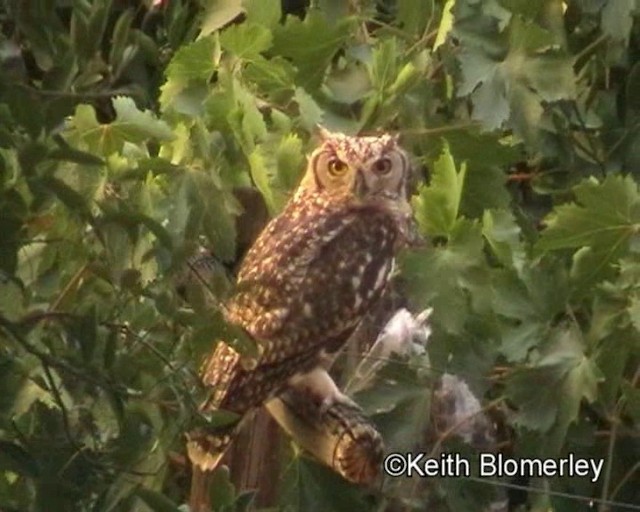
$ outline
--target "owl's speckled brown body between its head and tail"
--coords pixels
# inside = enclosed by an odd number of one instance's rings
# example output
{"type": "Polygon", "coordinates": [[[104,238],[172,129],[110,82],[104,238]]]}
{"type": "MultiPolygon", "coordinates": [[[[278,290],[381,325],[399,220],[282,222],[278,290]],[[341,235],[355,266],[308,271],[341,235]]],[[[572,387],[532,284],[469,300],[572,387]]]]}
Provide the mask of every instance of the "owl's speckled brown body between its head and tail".
{"type": "Polygon", "coordinates": [[[305,345],[339,338],[389,280],[402,236],[394,215],[348,203],[315,213],[285,210],[242,265],[228,320],[258,340],[305,345]]]}

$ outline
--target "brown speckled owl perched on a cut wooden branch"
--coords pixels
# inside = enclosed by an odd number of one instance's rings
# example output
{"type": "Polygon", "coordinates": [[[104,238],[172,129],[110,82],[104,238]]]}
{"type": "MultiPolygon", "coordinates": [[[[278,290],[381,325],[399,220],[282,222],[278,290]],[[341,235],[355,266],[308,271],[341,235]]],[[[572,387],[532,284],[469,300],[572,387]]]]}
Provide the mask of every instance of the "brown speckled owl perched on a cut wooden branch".
{"type": "Polygon", "coordinates": [[[324,370],[376,304],[394,256],[409,239],[409,158],[396,137],[324,129],[300,185],[243,260],[226,321],[258,347],[251,364],[218,342],[202,369],[210,396],[201,409],[238,422],[188,437],[191,461],[216,466],[241,419],[286,386],[329,406],[341,395],[324,370]]]}

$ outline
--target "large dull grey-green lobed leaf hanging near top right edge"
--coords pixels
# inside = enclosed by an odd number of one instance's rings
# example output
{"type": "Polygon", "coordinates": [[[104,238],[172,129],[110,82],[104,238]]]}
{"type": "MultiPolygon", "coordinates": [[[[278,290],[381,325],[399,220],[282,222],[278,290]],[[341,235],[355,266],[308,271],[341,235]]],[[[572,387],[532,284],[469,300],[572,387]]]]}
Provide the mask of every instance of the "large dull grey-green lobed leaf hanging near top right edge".
{"type": "Polygon", "coordinates": [[[462,43],[458,95],[470,97],[473,118],[487,129],[508,122],[517,135],[537,145],[543,102],[576,97],[571,58],[551,32],[532,21],[484,3],[456,7],[467,10],[454,24],[462,43]],[[505,20],[508,26],[501,33],[505,20]]]}

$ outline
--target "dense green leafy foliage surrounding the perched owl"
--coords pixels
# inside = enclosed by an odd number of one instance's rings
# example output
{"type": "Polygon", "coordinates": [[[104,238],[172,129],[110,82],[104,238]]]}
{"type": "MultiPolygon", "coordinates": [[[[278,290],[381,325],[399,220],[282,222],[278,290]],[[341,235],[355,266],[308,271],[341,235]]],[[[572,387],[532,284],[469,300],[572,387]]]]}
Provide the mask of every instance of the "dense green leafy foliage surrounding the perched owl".
{"type": "MultiPolygon", "coordinates": [[[[186,501],[197,367],[229,333],[177,276],[204,243],[228,280],[256,211],[238,190],[277,213],[318,123],[398,131],[416,155],[430,243],[399,280],[434,333],[429,366],[360,397],[389,448],[419,446],[446,371],[500,404],[515,456],[605,459],[595,483],[530,481],[533,509],[640,501],[635,2],[126,5],[0,4],[0,508],[186,501]]],[[[217,478],[219,509],[253,506],[217,478]]],[[[288,510],[486,495],[389,479],[366,496],[297,452],[282,478],[288,510]]]]}

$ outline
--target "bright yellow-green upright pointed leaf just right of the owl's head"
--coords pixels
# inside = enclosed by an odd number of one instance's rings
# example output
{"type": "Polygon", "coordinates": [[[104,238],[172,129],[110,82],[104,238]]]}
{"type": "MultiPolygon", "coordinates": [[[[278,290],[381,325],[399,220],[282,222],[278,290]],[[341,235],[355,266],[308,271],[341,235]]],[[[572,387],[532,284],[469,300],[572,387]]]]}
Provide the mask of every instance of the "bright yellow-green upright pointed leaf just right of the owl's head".
{"type": "Polygon", "coordinates": [[[455,162],[444,145],[440,158],[434,163],[431,183],[423,186],[413,200],[418,224],[424,233],[431,236],[449,236],[462,198],[466,164],[456,171],[455,162]]]}

